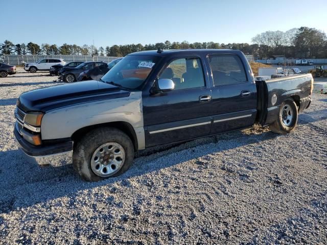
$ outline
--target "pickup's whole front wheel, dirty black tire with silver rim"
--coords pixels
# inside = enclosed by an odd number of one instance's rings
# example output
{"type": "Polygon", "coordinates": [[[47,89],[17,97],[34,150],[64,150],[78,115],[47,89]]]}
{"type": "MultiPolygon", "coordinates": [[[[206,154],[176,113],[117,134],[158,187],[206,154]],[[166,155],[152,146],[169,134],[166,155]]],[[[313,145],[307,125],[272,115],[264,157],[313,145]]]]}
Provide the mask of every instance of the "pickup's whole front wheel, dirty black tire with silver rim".
{"type": "Polygon", "coordinates": [[[73,151],[74,169],[86,181],[119,176],[132,165],[133,159],[131,139],[123,131],[109,127],[88,132],[73,151]]]}

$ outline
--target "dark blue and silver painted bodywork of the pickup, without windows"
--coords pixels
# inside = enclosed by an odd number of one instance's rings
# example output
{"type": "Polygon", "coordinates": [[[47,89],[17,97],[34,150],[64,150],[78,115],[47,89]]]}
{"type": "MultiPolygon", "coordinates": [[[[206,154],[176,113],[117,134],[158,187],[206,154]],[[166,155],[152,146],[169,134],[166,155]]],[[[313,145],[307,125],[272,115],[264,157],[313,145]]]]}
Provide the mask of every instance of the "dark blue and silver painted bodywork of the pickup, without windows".
{"type": "MultiPolygon", "coordinates": [[[[311,74],[267,82],[254,81],[251,68],[240,51],[146,51],[130,55],[158,56],[157,64],[141,89],[123,90],[110,84],[88,81],[21,94],[18,108],[25,112],[45,113],[41,137],[48,143],[34,148],[38,151],[42,148],[56,149],[53,145],[67,140],[72,142],[73,135],[83,128],[118,122],[131,126],[133,135],[137,138],[135,150],[143,150],[248,128],[254,122],[266,126],[277,119],[279,107],[287,97],[294,99],[299,111],[307,108],[311,101],[311,74]],[[215,86],[208,57],[226,54],[240,58],[247,80],[239,84],[215,86]],[[152,92],[155,80],[171,61],[192,57],[201,60],[205,86],[152,92]]],[[[21,140],[19,136],[16,137],[18,141],[21,140]]],[[[27,146],[23,145],[23,150],[24,147],[27,146]]],[[[73,144],[68,150],[71,151],[72,147],[73,144]]]]}

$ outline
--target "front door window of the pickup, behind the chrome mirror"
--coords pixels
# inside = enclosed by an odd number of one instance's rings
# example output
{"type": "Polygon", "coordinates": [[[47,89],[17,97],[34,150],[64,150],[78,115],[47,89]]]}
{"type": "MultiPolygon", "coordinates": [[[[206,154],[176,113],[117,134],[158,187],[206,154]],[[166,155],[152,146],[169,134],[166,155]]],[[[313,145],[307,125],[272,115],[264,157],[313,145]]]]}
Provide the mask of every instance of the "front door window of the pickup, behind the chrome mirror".
{"type": "Polygon", "coordinates": [[[177,58],[161,72],[159,79],[171,79],[175,89],[204,87],[203,68],[200,58],[177,58]]]}

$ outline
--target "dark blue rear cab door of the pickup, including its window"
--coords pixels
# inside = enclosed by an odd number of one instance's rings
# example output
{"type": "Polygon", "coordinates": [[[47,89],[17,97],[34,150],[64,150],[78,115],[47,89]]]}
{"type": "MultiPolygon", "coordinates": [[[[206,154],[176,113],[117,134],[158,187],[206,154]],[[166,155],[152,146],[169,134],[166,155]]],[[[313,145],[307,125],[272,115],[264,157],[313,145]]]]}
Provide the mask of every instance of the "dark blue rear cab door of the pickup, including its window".
{"type": "MultiPolygon", "coordinates": [[[[245,57],[243,57],[245,59],[245,57]]],[[[256,87],[236,54],[209,55],[212,88],[212,134],[253,125],[256,116],[256,87]]]]}

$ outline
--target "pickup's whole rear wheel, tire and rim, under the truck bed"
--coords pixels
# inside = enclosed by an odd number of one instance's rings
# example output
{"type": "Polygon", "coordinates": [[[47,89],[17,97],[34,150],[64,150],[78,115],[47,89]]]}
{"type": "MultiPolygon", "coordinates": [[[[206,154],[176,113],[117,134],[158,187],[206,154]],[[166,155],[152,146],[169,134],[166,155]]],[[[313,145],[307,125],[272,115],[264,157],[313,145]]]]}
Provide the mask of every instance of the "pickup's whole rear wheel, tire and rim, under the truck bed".
{"type": "Polygon", "coordinates": [[[276,134],[288,134],[295,129],[298,111],[293,99],[287,99],[279,109],[278,119],[269,125],[270,130],[276,134]]]}

